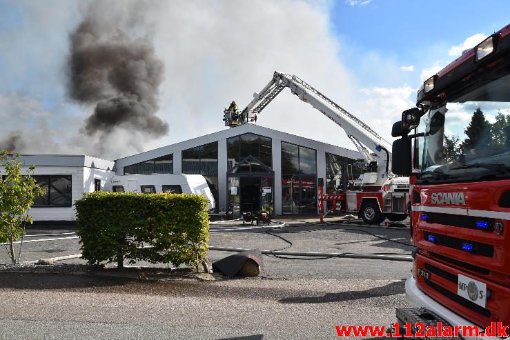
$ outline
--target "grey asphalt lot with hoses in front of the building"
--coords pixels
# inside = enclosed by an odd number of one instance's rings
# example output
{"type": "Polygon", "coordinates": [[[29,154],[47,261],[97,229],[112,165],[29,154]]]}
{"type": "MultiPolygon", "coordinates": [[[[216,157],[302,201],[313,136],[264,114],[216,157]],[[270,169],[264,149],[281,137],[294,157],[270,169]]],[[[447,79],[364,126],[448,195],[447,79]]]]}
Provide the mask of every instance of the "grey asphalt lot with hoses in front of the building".
{"type": "MultiPolygon", "coordinates": [[[[231,230],[243,228],[239,222],[214,223],[210,246],[358,254],[412,249],[409,227],[311,221],[248,230],[231,230]]],[[[26,238],[55,240],[24,243],[21,261],[79,253],[78,239],[67,238],[75,237],[66,234],[73,231],[30,230],[62,235],[26,238]]],[[[216,261],[228,254],[208,256],[216,261]]],[[[5,252],[0,259],[8,261],[5,252]]],[[[257,278],[208,282],[0,273],[0,334],[5,339],[335,339],[335,326],[393,323],[395,308],[407,306],[404,280],[410,270],[409,262],[269,255],[257,278]]]]}

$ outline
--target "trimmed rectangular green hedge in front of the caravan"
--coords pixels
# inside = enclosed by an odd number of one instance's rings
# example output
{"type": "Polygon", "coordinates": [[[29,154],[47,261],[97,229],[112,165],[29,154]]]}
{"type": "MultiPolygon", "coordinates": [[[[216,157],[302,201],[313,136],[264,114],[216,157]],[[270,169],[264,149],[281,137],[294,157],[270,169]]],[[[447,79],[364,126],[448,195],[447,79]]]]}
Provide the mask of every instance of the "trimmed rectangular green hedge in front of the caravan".
{"type": "Polygon", "coordinates": [[[196,266],[206,260],[209,217],[203,196],[90,192],[75,205],[81,254],[88,263],[121,266],[129,259],[196,266]]]}

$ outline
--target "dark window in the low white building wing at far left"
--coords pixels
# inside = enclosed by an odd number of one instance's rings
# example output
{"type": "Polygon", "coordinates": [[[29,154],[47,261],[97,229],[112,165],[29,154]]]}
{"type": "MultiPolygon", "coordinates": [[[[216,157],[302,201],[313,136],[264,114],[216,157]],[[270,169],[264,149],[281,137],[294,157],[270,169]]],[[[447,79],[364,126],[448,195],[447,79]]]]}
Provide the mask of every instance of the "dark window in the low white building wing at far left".
{"type": "Polygon", "coordinates": [[[34,206],[58,206],[70,207],[71,200],[71,177],[61,175],[34,176],[37,184],[46,194],[34,200],[34,206]]]}

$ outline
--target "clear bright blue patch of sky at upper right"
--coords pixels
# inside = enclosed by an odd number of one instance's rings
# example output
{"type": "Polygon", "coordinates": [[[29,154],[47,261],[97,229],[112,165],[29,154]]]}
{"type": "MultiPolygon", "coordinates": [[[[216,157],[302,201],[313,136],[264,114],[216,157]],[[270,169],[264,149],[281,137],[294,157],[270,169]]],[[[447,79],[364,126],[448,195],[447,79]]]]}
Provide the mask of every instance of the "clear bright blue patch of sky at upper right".
{"type": "Polygon", "coordinates": [[[398,86],[404,80],[415,87],[420,81],[415,77],[418,70],[441,59],[453,61],[444,52],[473,34],[489,35],[506,26],[508,13],[510,1],[504,0],[335,1],[331,21],[344,46],[346,64],[363,73],[363,86],[398,86]],[[412,65],[415,72],[404,74],[404,79],[389,74],[380,77],[359,68],[360,56],[367,53],[401,66],[412,65]]]}

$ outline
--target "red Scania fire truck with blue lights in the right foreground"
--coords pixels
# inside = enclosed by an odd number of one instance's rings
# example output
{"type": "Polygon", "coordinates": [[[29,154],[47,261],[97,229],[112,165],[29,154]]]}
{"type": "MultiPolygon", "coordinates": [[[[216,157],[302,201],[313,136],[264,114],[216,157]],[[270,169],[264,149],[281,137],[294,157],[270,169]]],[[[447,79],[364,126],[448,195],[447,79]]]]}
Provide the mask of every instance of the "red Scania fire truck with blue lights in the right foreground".
{"type": "Polygon", "coordinates": [[[392,129],[417,247],[406,297],[418,309],[397,317],[509,325],[510,25],[426,79],[416,106],[392,129]]]}

